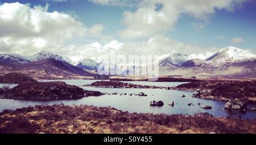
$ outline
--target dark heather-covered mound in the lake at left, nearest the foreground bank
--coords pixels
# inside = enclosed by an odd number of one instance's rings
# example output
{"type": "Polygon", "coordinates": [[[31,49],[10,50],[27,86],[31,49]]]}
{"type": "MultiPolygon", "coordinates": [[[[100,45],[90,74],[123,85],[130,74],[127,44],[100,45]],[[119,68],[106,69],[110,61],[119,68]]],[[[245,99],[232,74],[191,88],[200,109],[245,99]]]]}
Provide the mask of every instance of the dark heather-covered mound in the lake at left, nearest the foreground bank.
{"type": "Polygon", "coordinates": [[[6,90],[1,97],[3,99],[49,101],[76,100],[82,97],[101,95],[103,95],[101,92],[86,91],[64,82],[31,82],[6,90]]]}

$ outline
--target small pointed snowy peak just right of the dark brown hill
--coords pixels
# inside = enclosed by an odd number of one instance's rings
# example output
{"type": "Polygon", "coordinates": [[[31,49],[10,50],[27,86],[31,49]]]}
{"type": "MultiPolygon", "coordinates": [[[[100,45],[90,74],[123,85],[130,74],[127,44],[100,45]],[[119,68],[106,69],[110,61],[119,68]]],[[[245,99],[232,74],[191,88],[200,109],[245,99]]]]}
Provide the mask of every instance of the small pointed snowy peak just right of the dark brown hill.
{"type": "Polygon", "coordinates": [[[76,66],[80,67],[81,69],[87,70],[97,70],[100,63],[93,61],[93,59],[85,58],[80,61],[76,66]]]}

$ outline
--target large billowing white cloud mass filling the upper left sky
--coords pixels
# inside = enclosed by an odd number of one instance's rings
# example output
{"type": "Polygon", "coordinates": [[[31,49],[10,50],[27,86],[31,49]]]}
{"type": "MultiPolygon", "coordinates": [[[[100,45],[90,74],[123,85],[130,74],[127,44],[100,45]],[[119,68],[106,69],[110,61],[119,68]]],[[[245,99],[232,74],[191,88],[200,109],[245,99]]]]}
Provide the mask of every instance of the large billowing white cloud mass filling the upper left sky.
{"type": "Polygon", "coordinates": [[[109,37],[101,34],[102,24],[88,28],[71,15],[48,12],[48,6],[30,7],[19,2],[0,5],[0,53],[60,53],[59,49],[72,40],[109,37]]]}

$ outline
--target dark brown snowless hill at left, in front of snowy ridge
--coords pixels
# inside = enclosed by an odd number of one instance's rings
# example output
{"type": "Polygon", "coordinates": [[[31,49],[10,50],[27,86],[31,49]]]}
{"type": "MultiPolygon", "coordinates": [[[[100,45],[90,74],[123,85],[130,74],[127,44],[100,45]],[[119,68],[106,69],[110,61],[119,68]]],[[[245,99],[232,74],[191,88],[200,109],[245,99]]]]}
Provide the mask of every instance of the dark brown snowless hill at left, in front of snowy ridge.
{"type": "Polygon", "coordinates": [[[32,78],[36,79],[83,79],[89,76],[95,76],[79,67],[73,66],[67,62],[57,61],[53,58],[24,64],[0,63],[0,70],[1,69],[3,70],[1,71],[2,74],[18,72],[30,75],[32,78]]]}

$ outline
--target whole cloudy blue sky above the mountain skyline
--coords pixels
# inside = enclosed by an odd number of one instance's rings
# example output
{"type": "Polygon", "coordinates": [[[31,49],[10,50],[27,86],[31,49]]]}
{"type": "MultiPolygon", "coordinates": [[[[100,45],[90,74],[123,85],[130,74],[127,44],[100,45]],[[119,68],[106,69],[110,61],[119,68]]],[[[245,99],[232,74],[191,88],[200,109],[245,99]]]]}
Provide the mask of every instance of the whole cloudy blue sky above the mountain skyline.
{"type": "Polygon", "coordinates": [[[226,46],[255,53],[255,33],[253,0],[0,0],[0,53],[205,59],[226,46]]]}

